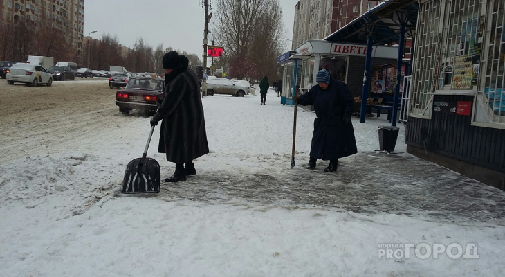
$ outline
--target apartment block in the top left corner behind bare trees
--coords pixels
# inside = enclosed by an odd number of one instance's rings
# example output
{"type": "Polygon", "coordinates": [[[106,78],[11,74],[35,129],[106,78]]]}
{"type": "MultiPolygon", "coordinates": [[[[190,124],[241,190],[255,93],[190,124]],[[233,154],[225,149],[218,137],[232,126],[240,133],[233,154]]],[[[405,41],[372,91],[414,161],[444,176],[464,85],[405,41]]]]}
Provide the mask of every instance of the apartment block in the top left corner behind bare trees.
{"type": "Polygon", "coordinates": [[[67,34],[67,42],[82,55],[84,33],[84,0],[0,0],[0,21],[52,20],[67,34]]]}

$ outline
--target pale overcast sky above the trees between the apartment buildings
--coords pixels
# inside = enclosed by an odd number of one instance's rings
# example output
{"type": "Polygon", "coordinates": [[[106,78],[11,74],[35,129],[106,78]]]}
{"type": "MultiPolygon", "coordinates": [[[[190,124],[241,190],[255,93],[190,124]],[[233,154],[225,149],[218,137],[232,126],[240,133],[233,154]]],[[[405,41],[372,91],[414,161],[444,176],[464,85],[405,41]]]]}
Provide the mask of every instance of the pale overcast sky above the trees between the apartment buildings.
{"type": "MultiPolygon", "coordinates": [[[[279,0],[279,3],[286,39],[291,39],[297,0],[279,0]]],[[[201,56],[204,13],[201,0],[87,0],[84,2],[84,44],[88,34],[96,30],[90,37],[116,35],[120,44],[127,47],[134,46],[142,37],[153,48],[163,44],[164,48],[170,46],[201,56]]],[[[212,35],[208,38],[212,40],[212,35]]],[[[285,42],[288,51],[291,42],[285,42]]]]}

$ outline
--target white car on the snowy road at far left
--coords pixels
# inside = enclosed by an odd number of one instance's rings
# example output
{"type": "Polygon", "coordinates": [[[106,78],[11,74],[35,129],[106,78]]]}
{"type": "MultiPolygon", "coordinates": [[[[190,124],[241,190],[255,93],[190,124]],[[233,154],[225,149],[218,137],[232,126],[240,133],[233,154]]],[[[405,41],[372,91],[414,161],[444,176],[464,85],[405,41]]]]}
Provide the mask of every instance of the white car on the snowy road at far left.
{"type": "Polygon", "coordinates": [[[37,84],[46,84],[48,87],[53,84],[53,76],[37,64],[25,64],[18,62],[13,64],[10,69],[7,69],[7,83],[14,84],[15,82],[24,82],[32,87],[37,87],[37,84]]]}

